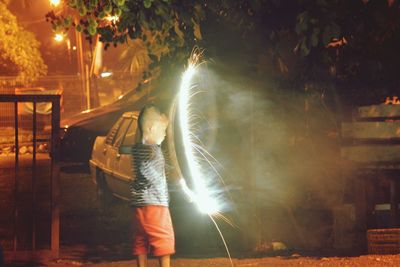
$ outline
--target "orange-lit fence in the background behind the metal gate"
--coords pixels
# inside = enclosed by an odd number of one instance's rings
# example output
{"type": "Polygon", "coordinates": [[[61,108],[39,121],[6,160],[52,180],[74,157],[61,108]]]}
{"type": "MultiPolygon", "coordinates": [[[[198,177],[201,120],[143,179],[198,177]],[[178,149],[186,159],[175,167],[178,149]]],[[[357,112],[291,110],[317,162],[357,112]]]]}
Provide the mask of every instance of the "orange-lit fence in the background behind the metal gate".
{"type": "MultiPolygon", "coordinates": [[[[91,108],[98,105],[108,104],[110,101],[117,99],[126,91],[135,88],[140,80],[139,78],[137,75],[127,76],[119,72],[114,73],[113,76],[107,78],[93,77],[90,81],[91,93],[89,96],[89,98],[91,98],[91,101],[89,101],[91,102],[91,108]]],[[[0,94],[19,93],[61,93],[61,119],[69,118],[88,108],[88,92],[82,90],[79,75],[45,76],[30,83],[29,85],[21,84],[16,77],[0,76],[0,94]]],[[[12,103],[1,103],[0,129],[4,127],[13,127],[13,108],[14,107],[12,103]]],[[[39,124],[45,124],[44,121],[48,120],[48,116],[46,114],[38,115],[39,124]]],[[[26,123],[25,121],[25,114],[23,114],[23,112],[20,110],[20,122],[22,123],[22,126],[29,128],[29,119],[26,123]]]]}

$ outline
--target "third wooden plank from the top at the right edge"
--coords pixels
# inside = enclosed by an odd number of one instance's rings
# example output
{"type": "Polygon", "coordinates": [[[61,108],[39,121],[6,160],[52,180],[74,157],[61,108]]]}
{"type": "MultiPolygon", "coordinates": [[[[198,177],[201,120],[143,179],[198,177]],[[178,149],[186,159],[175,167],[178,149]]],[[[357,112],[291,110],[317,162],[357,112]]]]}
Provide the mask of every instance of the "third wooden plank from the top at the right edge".
{"type": "Polygon", "coordinates": [[[341,157],[358,163],[400,162],[400,145],[354,145],[342,147],[341,157]]]}

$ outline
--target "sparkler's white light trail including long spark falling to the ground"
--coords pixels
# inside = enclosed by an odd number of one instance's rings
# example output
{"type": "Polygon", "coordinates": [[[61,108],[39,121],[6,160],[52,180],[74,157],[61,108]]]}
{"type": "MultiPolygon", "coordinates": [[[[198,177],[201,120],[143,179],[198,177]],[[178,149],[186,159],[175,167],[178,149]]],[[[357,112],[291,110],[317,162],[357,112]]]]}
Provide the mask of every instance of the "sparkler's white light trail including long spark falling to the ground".
{"type": "Polygon", "coordinates": [[[221,206],[217,202],[217,200],[214,199],[211,195],[212,190],[207,187],[207,182],[204,179],[205,174],[202,173],[200,162],[198,160],[198,157],[196,156],[196,153],[200,153],[203,157],[205,157],[205,154],[209,154],[202,147],[199,146],[199,138],[192,131],[192,120],[194,115],[192,114],[191,109],[191,98],[195,95],[193,93],[193,89],[195,87],[193,85],[193,77],[196,74],[201,56],[201,50],[193,50],[192,55],[189,59],[189,66],[182,76],[182,82],[178,96],[178,119],[184,156],[188,165],[188,172],[193,182],[193,191],[188,188],[184,179],[181,179],[180,183],[185,194],[197,205],[198,209],[202,213],[207,214],[214,223],[224,243],[230,263],[233,266],[232,258],[225,238],[213,216],[222,218],[228,223],[229,220],[220,213],[221,206]]]}

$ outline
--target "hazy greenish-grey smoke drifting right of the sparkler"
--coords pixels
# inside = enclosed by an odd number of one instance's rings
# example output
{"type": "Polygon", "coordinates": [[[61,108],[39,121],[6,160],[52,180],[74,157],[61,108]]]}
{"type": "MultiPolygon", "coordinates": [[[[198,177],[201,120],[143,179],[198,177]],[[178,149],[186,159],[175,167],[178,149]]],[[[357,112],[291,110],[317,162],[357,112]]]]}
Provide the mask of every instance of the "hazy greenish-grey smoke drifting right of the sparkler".
{"type": "Polygon", "coordinates": [[[199,77],[198,136],[216,159],[242,243],[244,235],[253,247],[274,240],[321,247],[344,191],[337,114],[323,97],[329,86],[294,93],[215,66],[199,77]]]}

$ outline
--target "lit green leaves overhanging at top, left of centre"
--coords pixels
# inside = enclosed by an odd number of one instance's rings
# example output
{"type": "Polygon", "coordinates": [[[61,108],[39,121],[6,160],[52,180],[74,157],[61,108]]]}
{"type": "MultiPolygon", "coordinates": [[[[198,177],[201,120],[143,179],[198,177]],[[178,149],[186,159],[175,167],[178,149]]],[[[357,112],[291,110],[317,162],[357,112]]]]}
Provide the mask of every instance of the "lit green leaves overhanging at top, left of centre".
{"type": "Polygon", "coordinates": [[[69,0],[68,7],[75,13],[47,14],[55,31],[75,27],[89,41],[99,34],[106,49],[130,39],[141,39],[153,62],[190,50],[201,38],[199,23],[203,13],[197,1],[69,0]],[[111,16],[117,16],[118,20],[108,20],[111,16]]]}

